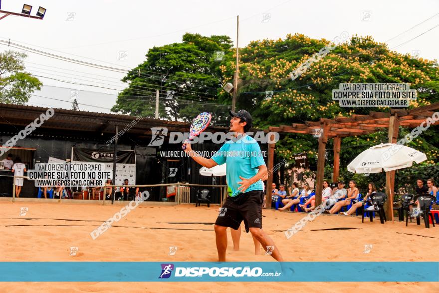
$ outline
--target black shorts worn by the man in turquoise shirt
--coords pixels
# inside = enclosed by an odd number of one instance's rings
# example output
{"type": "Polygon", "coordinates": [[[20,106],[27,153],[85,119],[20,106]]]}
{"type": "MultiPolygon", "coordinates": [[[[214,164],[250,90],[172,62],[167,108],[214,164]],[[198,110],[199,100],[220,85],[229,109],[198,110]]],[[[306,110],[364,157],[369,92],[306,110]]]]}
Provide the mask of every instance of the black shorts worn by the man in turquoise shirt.
{"type": "Polygon", "coordinates": [[[241,193],[236,197],[227,197],[219,215],[216,225],[230,227],[237,230],[244,221],[245,231],[249,228],[262,228],[262,203],[264,193],[262,190],[252,190],[241,193]]]}

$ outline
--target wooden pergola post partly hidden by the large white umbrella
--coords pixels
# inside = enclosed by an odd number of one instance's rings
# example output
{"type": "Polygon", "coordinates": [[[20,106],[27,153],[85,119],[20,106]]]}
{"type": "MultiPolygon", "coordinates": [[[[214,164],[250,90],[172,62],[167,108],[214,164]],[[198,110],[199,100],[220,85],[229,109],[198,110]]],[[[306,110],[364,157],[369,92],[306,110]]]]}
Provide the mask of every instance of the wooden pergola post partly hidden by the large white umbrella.
{"type": "MultiPolygon", "coordinates": [[[[399,133],[398,114],[390,116],[389,119],[389,143],[396,143],[399,133]]],[[[386,172],[386,194],[388,196],[387,205],[385,206],[386,217],[393,221],[393,198],[395,190],[395,171],[386,172]]]]}

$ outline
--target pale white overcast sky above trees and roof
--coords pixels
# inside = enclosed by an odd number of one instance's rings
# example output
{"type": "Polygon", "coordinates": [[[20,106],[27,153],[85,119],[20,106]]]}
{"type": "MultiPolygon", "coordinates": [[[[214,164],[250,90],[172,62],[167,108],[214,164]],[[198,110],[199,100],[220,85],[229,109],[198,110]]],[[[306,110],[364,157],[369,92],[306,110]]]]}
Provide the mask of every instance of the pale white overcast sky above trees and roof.
{"type": "MultiPolygon", "coordinates": [[[[2,10],[20,12],[22,4],[26,3],[33,5],[31,15],[35,15],[38,6],[46,8],[47,12],[43,20],[18,16],[1,19],[0,40],[10,38],[11,42],[53,54],[124,69],[142,63],[148,49],[153,46],[181,41],[185,32],[202,35],[225,34],[235,41],[236,15],[240,18],[239,46],[242,47],[251,40],[284,38],[286,34],[295,32],[312,38],[332,39],[341,32],[348,31],[350,35],[372,35],[377,41],[386,41],[439,13],[439,1],[435,0],[1,0],[1,2],[2,10]],[[371,12],[370,19],[364,19],[368,21],[363,20],[363,11],[371,12]],[[74,16],[69,17],[68,12],[73,12],[74,16]],[[271,18],[267,22],[262,22],[262,13],[271,13],[271,18]],[[127,52],[125,60],[118,60],[120,51],[127,52]]],[[[404,43],[438,24],[439,15],[436,15],[390,40],[389,47],[393,48],[404,43]]],[[[420,57],[437,59],[438,33],[439,27],[436,27],[395,50],[411,54],[413,51],[419,51],[420,57]]],[[[4,49],[7,47],[0,44],[0,50],[4,49]]],[[[124,84],[119,81],[123,74],[33,53],[28,54],[26,70],[35,75],[70,82],[120,90],[124,88],[124,84]]],[[[78,90],[77,101],[81,110],[109,112],[118,92],[38,78],[43,82],[44,87],[41,92],[35,92],[35,95],[41,97],[33,96],[29,100],[30,105],[70,109],[71,90],[78,90]]]]}

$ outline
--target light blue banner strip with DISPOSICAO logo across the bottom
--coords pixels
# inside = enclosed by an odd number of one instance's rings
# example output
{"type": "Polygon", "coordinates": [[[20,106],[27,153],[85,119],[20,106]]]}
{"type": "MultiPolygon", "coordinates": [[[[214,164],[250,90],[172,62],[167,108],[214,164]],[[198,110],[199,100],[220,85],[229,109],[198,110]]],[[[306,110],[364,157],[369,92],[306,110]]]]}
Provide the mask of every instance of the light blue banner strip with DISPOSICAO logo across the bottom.
{"type": "Polygon", "coordinates": [[[1,282],[439,282],[439,262],[0,262],[1,282]]]}

